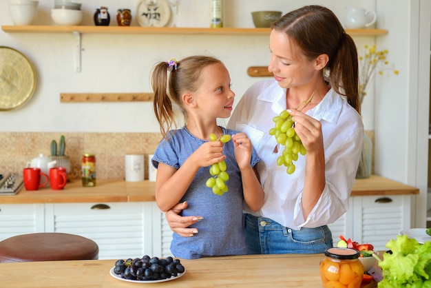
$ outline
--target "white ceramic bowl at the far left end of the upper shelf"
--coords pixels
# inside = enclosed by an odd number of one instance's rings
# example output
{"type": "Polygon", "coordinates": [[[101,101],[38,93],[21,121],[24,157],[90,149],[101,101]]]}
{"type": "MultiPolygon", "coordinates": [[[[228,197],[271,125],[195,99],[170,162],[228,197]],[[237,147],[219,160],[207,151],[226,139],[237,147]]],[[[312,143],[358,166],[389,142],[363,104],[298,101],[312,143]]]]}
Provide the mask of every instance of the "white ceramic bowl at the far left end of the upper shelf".
{"type": "Polygon", "coordinates": [[[14,25],[32,25],[36,18],[39,1],[10,0],[9,14],[14,25]]]}

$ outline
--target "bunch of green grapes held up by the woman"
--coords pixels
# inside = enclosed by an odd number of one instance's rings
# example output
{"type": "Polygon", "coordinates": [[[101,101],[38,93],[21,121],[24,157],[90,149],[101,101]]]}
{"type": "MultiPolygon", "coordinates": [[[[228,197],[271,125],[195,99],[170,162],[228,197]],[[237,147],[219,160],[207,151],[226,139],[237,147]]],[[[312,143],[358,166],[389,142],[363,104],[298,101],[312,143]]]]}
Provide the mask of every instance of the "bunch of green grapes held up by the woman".
{"type": "Polygon", "coordinates": [[[273,118],[275,127],[269,130],[269,134],[275,136],[277,143],[284,146],[282,156],[277,158],[277,165],[286,166],[287,174],[295,172],[293,161],[298,160],[298,154],[306,154],[306,149],[302,145],[301,139],[295,132],[295,123],[287,110],[283,110],[279,116],[273,118]]]}

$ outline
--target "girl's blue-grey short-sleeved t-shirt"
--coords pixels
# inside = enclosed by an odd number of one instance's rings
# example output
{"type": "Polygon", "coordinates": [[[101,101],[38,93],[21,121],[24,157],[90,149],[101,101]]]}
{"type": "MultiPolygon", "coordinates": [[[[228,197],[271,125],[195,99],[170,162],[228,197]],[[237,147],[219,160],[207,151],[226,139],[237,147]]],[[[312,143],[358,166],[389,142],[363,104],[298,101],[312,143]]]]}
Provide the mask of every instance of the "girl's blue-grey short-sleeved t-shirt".
{"type": "MultiPolygon", "coordinates": [[[[236,134],[238,132],[222,127],[223,134],[236,134]]],[[[168,141],[160,142],[154,152],[152,163],[158,167],[158,163],[164,163],[176,169],[200,147],[204,141],[196,138],[185,128],[171,130],[168,141]]],[[[226,181],[228,192],[222,196],[213,194],[211,188],[205,183],[209,174],[209,167],[200,167],[189,189],[182,197],[181,202],[187,200],[187,209],[182,216],[202,216],[204,219],[192,225],[199,229],[199,233],[193,237],[182,237],[173,234],[171,252],[175,257],[196,259],[205,256],[225,256],[247,254],[242,208],[244,197],[242,194],[241,172],[235,160],[233,143],[224,143],[223,154],[227,165],[226,172],[229,180],[226,181]]],[[[254,167],[260,158],[254,148],[251,157],[251,166],[254,167]]]]}

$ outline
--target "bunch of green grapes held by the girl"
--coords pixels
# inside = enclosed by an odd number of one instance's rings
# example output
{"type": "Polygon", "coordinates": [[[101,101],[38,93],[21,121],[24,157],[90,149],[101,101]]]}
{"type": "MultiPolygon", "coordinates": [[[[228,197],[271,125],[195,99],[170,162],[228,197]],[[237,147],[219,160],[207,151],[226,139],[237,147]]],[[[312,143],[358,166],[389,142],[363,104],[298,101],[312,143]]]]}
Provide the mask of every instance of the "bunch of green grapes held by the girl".
{"type": "MultiPolygon", "coordinates": [[[[215,136],[215,134],[210,134],[209,140],[217,141],[217,136],[215,136]]],[[[220,137],[222,143],[227,143],[230,140],[231,135],[229,134],[224,134],[220,137]]],[[[222,196],[227,192],[227,185],[224,182],[229,180],[229,175],[226,172],[226,162],[223,160],[211,165],[211,167],[209,167],[209,174],[211,174],[212,177],[207,180],[207,187],[211,188],[214,194],[222,196]]]]}

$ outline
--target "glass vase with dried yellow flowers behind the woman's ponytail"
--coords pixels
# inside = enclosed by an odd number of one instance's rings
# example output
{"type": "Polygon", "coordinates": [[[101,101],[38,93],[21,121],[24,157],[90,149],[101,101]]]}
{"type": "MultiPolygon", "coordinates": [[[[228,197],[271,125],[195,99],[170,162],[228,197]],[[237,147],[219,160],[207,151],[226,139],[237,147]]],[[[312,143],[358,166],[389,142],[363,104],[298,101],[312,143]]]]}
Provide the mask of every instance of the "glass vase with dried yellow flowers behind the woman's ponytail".
{"type": "MultiPolygon", "coordinates": [[[[386,55],[388,50],[377,50],[376,45],[365,45],[365,53],[359,54],[359,99],[362,102],[367,94],[372,79],[376,73],[382,75],[385,70],[390,70],[398,74],[398,70],[382,68],[381,65],[388,65],[386,55]]],[[[372,141],[367,134],[364,134],[364,145],[362,146],[361,158],[356,173],[356,178],[368,178],[371,176],[372,167],[372,141]]]]}

